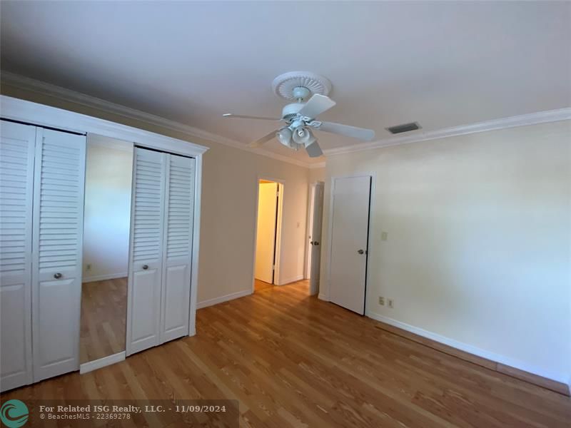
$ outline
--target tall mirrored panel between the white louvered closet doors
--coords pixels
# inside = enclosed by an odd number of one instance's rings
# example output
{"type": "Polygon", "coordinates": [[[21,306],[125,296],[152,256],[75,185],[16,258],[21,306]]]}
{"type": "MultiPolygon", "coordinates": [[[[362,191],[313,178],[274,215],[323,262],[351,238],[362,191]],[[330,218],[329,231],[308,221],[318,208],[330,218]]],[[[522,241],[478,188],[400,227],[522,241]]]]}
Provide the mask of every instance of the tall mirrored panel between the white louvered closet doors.
{"type": "Polygon", "coordinates": [[[133,143],[89,134],[80,362],[125,351],[133,143]]]}

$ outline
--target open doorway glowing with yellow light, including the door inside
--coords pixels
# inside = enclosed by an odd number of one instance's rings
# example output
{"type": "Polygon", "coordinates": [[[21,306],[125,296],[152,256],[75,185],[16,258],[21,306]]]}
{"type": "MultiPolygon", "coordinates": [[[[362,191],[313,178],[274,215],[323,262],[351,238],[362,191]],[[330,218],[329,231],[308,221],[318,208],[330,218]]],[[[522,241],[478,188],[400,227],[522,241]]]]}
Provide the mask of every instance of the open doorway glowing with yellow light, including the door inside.
{"type": "Polygon", "coordinates": [[[256,253],[254,256],[253,291],[279,285],[279,253],[283,183],[260,178],[257,182],[256,253]]]}

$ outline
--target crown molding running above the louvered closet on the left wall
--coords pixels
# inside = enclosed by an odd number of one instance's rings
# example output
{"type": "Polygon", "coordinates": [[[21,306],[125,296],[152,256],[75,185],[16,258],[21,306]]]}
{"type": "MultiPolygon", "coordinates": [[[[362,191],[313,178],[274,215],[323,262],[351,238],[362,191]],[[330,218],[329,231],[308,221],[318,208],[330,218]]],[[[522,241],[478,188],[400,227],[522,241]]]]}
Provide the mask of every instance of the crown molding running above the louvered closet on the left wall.
{"type": "Polygon", "coordinates": [[[116,104],[112,103],[111,101],[103,100],[101,98],[89,96],[86,95],[85,93],[72,91],[71,89],[62,88],[61,86],[52,85],[51,83],[38,81],[34,78],[20,76],[19,74],[10,73],[8,71],[1,71],[0,78],[2,83],[8,86],[13,86],[14,88],[19,88],[25,91],[31,91],[35,93],[41,93],[42,95],[46,96],[53,96],[55,98],[59,98],[64,101],[81,104],[81,106],[96,108],[106,113],[113,113],[116,114],[117,116],[123,116],[125,118],[130,118],[136,121],[145,122],[154,126],[160,126],[161,128],[166,128],[172,131],[185,133],[191,137],[198,137],[204,140],[214,141],[215,143],[220,143],[223,144],[224,146],[230,146],[233,148],[238,148],[243,151],[254,153],[256,155],[266,156],[267,158],[272,158],[276,161],[292,163],[293,165],[302,166],[303,168],[319,168],[311,166],[315,165],[313,163],[298,161],[297,159],[289,158],[288,156],[279,155],[278,153],[266,151],[261,148],[250,148],[246,146],[244,143],[240,143],[239,141],[233,140],[231,138],[219,136],[216,133],[204,131],[203,129],[195,128],[194,126],[185,125],[184,123],[180,123],[177,121],[171,121],[170,119],[166,119],[161,116],[156,116],[151,113],[146,113],[144,111],[136,110],[135,108],[121,106],[121,104],[116,104]]]}

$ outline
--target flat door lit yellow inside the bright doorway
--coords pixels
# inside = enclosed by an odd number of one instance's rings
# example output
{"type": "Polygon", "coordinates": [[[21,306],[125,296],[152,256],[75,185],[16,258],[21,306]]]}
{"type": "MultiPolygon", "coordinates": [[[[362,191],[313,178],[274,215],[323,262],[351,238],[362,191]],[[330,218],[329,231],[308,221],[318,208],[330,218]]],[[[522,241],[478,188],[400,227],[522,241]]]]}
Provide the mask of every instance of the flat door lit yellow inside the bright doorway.
{"type": "Polygon", "coordinates": [[[258,184],[258,232],[256,234],[256,268],[254,277],[273,283],[278,215],[278,183],[258,184]]]}

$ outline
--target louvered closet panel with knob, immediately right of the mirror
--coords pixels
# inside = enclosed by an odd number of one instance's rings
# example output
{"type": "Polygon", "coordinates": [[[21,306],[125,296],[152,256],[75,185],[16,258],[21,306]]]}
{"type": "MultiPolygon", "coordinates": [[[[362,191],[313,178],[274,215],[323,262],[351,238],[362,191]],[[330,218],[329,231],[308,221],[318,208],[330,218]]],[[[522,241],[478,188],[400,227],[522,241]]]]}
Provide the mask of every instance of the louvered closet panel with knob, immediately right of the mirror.
{"type": "Polygon", "coordinates": [[[166,153],[135,148],[127,355],[160,343],[166,153]]]}

